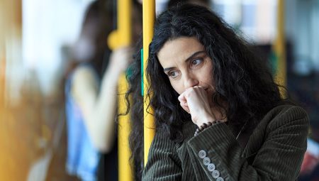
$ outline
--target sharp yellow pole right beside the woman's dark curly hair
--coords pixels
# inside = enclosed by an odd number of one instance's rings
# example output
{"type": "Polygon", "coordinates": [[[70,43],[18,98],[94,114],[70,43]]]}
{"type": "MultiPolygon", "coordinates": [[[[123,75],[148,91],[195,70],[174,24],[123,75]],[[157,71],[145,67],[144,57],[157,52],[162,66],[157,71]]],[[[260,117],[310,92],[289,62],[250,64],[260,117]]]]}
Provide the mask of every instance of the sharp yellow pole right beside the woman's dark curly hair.
{"type": "MultiPolygon", "coordinates": [[[[155,124],[154,117],[152,116],[152,110],[147,109],[150,104],[150,100],[147,99],[147,79],[146,79],[146,67],[148,59],[148,46],[152,41],[154,34],[155,23],[155,0],[143,1],[143,84],[144,84],[144,165],[147,163],[147,155],[150,149],[150,145],[155,136],[155,124]]],[[[149,107],[150,108],[150,107],[149,107]]]]}

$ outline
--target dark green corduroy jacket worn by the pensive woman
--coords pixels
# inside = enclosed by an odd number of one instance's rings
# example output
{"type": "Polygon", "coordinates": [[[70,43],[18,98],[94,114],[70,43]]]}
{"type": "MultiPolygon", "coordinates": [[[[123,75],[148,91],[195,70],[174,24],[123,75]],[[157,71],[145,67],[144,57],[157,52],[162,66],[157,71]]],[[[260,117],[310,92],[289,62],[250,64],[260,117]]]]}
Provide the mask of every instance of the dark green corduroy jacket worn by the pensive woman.
{"type": "Polygon", "coordinates": [[[196,126],[190,121],[183,126],[182,143],[157,131],[142,180],[296,180],[308,126],[304,109],[284,105],[269,111],[238,141],[224,123],[194,136],[196,126]]]}

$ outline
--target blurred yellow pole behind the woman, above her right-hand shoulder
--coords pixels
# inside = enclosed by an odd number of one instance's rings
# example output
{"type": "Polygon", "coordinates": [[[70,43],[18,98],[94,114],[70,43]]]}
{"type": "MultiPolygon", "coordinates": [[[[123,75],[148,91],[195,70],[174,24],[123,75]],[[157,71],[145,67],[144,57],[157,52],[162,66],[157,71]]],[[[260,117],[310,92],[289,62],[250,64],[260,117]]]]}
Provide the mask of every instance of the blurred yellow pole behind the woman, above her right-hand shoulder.
{"type": "MultiPolygon", "coordinates": [[[[276,83],[286,86],[286,48],[284,32],[284,0],[277,0],[276,40],[273,46],[276,55],[276,83]]],[[[284,92],[281,90],[281,95],[284,92]]]]}

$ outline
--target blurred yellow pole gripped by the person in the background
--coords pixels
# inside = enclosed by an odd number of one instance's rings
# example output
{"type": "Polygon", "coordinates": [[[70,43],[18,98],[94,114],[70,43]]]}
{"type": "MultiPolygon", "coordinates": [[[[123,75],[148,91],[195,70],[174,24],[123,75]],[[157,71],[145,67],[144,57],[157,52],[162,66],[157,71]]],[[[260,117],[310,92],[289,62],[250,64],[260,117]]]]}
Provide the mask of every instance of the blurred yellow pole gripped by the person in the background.
{"type": "MultiPolygon", "coordinates": [[[[112,50],[122,46],[129,46],[132,40],[131,33],[131,0],[117,1],[117,30],[108,35],[108,47],[112,50]]],[[[128,90],[128,82],[123,73],[118,80],[118,113],[125,113],[127,106],[125,92],[128,90]]],[[[130,164],[130,147],[128,138],[130,134],[130,116],[118,117],[118,180],[133,180],[133,171],[130,164]]]]}

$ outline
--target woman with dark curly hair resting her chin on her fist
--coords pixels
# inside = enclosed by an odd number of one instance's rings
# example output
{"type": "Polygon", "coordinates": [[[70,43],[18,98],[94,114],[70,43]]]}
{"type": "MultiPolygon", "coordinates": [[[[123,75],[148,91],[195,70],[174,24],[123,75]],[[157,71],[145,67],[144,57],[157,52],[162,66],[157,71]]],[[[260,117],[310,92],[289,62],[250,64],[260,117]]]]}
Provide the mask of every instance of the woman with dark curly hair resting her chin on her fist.
{"type": "Polygon", "coordinates": [[[296,180],[308,116],[216,14],[159,15],[146,73],[156,134],[142,180],[296,180]]]}

